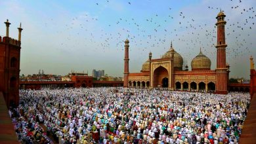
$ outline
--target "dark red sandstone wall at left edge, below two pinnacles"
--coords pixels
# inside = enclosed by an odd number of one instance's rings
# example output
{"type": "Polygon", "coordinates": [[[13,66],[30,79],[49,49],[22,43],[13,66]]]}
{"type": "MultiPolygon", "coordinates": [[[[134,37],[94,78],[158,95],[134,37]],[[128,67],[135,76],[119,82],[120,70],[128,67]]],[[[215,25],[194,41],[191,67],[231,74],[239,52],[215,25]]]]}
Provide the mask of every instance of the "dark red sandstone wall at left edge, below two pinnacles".
{"type": "Polygon", "coordinates": [[[0,91],[5,96],[7,107],[10,102],[18,105],[18,87],[20,74],[20,46],[18,42],[9,37],[3,37],[0,42],[0,91]],[[11,67],[11,58],[16,58],[14,67],[11,67]],[[15,81],[11,82],[11,78],[15,81]]]}

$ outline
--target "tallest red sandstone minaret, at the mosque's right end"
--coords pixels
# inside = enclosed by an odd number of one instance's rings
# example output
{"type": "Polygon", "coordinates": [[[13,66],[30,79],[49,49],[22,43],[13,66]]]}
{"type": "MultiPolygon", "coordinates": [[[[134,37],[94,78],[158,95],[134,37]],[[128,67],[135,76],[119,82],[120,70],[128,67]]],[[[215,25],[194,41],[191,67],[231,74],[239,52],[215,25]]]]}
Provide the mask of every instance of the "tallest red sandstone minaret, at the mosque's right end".
{"type": "Polygon", "coordinates": [[[227,94],[227,68],[226,68],[226,43],[225,43],[225,24],[226,21],[224,17],[226,15],[223,11],[219,12],[217,15],[217,68],[216,68],[216,93],[217,94],[227,94]]]}

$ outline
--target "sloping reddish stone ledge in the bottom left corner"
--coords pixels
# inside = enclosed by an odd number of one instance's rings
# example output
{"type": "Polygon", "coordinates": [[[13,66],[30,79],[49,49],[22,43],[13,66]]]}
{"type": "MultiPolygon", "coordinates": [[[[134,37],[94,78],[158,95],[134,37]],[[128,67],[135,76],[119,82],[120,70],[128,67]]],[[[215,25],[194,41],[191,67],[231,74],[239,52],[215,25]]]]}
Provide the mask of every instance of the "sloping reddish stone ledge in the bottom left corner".
{"type": "Polygon", "coordinates": [[[8,109],[0,92],[0,143],[19,143],[8,109]]]}

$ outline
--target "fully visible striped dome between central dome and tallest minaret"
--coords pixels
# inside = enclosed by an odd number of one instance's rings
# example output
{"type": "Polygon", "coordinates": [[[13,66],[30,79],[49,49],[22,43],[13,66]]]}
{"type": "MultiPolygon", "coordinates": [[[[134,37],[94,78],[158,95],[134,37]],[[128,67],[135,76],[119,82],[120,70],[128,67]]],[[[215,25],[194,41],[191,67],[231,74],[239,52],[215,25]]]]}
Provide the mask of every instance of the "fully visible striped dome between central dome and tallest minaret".
{"type": "Polygon", "coordinates": [[[200,48],[200,53],[191,62],[192,70],[208,70],[211,69],[211,60],[205,56],[200,48]]]}

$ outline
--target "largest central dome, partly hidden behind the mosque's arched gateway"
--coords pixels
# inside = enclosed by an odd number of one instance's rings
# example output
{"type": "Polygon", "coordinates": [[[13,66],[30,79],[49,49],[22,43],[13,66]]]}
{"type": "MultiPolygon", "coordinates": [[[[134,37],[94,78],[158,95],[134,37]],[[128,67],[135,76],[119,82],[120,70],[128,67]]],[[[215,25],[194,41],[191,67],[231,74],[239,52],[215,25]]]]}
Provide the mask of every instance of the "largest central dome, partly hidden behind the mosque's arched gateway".
{"type": "Polygon", "coordinates": [[[161,56],[161,58],[171,58],[171,52],[174,52],[174,58],[173,58],[173,67],[179,67],[179,69],[182,69],[183,66],[183,58],[181,54],[176,52],[173,48],[173,45],[171,44],[171,48],[161,56]]]}

